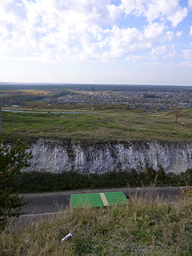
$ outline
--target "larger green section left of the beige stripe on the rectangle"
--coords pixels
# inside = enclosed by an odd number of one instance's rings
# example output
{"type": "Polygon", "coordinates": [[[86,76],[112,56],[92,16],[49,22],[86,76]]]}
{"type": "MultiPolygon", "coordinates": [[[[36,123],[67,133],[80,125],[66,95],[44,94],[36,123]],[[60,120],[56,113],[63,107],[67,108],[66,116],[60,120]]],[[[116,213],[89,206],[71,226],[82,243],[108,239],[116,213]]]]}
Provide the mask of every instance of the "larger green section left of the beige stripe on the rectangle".
{"type": "Polygon", "coordinates": [[[99,193],[93,194],[71,194],[72,208],[78,207],[100,207],[104,206],[99,193]]]}

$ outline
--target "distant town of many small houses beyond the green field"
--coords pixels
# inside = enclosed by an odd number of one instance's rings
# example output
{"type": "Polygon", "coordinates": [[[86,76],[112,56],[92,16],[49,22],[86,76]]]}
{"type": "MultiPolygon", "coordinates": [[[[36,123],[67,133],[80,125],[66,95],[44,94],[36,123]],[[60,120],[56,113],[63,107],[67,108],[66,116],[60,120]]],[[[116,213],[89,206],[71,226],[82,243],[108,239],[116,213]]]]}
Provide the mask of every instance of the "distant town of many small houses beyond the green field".
{"type": "Polygon", "coordinates": [[[115,105],[126,104],[127,108],[169,110],[192,108],[192,92],[188,91],[74,91],[58,98],[45,98],[48,104],[66,105],[115,105]]]}

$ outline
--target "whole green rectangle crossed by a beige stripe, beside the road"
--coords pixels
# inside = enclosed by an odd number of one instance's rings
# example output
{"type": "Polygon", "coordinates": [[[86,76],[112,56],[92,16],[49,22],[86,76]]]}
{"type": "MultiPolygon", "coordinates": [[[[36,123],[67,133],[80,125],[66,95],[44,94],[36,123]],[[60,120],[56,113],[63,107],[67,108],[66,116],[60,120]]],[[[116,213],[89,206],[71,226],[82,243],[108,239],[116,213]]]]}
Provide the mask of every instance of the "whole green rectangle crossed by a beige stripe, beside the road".
{"type": "Polygon", "coordinates": [[[102,207],[113,204],[127,204],[127,198],[121,191],[91,194],[71,194],[71,207],[102,207]]]}

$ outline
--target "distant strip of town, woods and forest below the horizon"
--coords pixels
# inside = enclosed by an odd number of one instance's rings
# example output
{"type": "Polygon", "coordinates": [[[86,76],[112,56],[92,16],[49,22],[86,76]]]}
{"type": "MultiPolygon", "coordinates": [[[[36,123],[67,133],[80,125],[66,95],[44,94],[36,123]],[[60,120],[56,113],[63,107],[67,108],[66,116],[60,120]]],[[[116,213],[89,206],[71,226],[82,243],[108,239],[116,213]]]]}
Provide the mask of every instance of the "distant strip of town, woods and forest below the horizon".
{"type": "Polygon", "coordinates": [[[4,108],[192,108],[192,86],[0,83],[4,108]]]}

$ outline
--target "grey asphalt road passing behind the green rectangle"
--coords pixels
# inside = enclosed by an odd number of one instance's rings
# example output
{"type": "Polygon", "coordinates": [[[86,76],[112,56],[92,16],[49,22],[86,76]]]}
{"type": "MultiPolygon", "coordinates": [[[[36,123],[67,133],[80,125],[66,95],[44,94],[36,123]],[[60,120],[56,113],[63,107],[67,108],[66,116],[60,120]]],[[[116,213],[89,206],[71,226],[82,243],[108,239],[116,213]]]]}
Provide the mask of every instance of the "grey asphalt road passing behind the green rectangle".
{"type": "Polygon", "coordinates": [[[38,194],[21,194],[24,196],[23,201],[28,202],[22,211],[25,214],[22,217],[31,215],[45,215],[54,214],[59,211],[68,210],[70,206],[70,195],[81,193],[97,193],[106,191],[123,191],[130,198],[134,198],[135,194],[138,196],[148,196],[151,194],[152,198],[160,197],[164,201],[175,201],[175,198],[180,194],[180,187],[164,187],[164,188],[114,188],[114,189],[94,189],[94,190],[75,190],[62,191],[55,193],[38,193],[38,194]]]}

